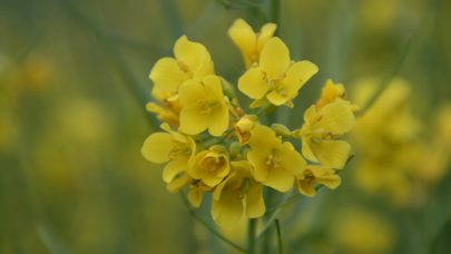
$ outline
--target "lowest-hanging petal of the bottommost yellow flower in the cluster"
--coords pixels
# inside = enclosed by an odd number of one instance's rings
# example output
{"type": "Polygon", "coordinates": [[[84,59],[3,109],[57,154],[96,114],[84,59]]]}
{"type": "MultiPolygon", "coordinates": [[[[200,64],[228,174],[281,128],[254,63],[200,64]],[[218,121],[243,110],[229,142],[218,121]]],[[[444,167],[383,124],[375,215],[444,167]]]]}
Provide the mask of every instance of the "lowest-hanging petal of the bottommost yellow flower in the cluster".
{"type": "Polygon", "coordinates": [[[212,201],[212,217],[223,227],[236,225],[243,216],[243,199],[233,189],[223,192],[219,201],[212,201]]]}

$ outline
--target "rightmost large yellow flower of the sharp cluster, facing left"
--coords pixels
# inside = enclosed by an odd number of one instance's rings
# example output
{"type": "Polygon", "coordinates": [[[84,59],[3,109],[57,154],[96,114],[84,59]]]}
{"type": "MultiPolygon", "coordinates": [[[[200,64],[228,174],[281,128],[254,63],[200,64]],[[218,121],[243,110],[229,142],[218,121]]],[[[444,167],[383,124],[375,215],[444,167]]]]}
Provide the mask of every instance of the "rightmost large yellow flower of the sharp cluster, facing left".
{"type": "Polygon", "coordinates": [[[311,162],[341,169],[344,167],[351,146],[336,140],[354,126],[355,117],[349,102],[335,100],[320,110],[311,106],[304,114],[304,125],[297,133],[302,138],[302,154],[311,162]]]}

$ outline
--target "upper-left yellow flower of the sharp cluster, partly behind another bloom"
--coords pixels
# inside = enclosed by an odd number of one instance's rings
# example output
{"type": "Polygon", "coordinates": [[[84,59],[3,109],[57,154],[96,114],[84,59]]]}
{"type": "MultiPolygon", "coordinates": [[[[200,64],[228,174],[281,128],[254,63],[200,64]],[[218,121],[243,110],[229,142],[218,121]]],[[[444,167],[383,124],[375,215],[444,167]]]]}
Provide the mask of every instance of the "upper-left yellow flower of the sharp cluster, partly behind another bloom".
{"type": "Polygon", "coordinates": [[[178,88],[188,79],[200,79],[214,74],[214,66],[207,49],[180,37],[174,46],[175,58],[159,59],[150,70],[149,78],[154,82],[151,94],[164,100],[177,94],[178,88]]]}

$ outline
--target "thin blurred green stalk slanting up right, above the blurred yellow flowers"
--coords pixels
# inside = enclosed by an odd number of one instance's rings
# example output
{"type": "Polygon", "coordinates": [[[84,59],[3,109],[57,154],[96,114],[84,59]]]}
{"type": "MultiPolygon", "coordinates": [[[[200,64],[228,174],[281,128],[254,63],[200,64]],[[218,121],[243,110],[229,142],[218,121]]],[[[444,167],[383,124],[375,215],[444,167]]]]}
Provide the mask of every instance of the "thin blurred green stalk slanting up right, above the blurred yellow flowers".
{"type": "Polygon", "coordinates": [[[390,74],[382,79],[381,85],[379,86],[378,90],[374,92],[374,95],[370,98],[370,100],[362,107],[362,109],[357,113],[359,116],[362,116],[363,114],[366,113],[369,108],[378,100],[378,98],[382,95],[382,92],[389,87],[393,78],[398,75],[400,71],[402,65],[404,63],[404,60],[409,53],[410,50],[410,45],[411,45],[412,38],[410,37],[408,41],[405,42],[404,47],[402,48],[401,52],[399,53],[395,63],[393,65],[393,69],[390,71],[390,74]]]}

